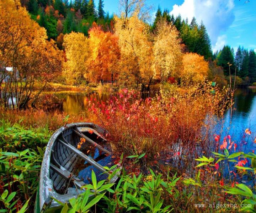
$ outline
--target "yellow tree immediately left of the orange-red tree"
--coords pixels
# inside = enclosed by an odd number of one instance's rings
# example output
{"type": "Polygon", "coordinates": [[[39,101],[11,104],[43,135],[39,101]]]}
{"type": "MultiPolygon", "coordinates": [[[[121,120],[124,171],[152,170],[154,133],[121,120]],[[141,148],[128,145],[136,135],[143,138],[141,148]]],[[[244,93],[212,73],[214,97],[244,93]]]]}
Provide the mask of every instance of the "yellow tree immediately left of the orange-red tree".
{"type": "Polygon", "coordinates": [[[83,33],[71,32],[64,36],[63,47],[66,53],[63,74],[67,83],[78,85],[78,81],[87,76],[90,56],[89,39],[83,33]]]}

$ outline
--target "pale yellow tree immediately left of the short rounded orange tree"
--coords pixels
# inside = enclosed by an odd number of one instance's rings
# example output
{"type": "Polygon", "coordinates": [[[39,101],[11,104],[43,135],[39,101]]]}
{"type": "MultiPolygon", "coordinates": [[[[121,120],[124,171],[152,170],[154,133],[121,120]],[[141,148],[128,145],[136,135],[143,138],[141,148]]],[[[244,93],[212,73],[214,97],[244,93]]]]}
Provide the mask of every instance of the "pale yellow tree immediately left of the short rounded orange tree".
{"type": "Polygon", "coordinates": [[[181,64],[182,53],[175,26],[165,21],[158,23],[153,53],[155,78],[166,81],[168,76],[176,76],[181,64]]]}

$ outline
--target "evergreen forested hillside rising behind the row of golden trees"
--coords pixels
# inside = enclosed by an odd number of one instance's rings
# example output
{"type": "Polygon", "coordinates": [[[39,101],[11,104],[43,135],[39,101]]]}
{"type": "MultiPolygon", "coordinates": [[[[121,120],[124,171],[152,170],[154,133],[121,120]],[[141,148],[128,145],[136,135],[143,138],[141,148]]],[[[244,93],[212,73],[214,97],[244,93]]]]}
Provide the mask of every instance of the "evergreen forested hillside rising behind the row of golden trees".
{"type": "MultiPolygon", "coordinates": [[[[94,0],[21,0],[22,6],[29,11],[31,18],[46,28],[48,39],[54,39],[59,49],[63,49],[64,35],[71,32],[83,33],[89,36],[89,29],[95,22],[104,32],[114,32],[114,16],[104,11],[103,0],[95,5],[94,0]]],[[[249,85],[256,81],[256,54],[239,47],[234,49],[225,45],[222,50],[213,54],[211,41],[203,21],[197,23],[196,18],[191,22],[182,20],[178,15],[170,15],[167,9],[161,10],[158,6],[152,22],[144,22],[150,27],[150,37],[154,39],[157,25],[164,21],[172,24],[178,30],[181,39],[182,51],[197,53],[209,61],[209,78],[217,78],[219,84],[226,84],[226,77],[236,75],[237,85],[249,85]],[[151,23],[151,24],[150,24],[151,23]],[[230,73],[229,73],[229,64],[230,73]]],[[[234,78],[233,78],[234,79],[234,78]]]]}

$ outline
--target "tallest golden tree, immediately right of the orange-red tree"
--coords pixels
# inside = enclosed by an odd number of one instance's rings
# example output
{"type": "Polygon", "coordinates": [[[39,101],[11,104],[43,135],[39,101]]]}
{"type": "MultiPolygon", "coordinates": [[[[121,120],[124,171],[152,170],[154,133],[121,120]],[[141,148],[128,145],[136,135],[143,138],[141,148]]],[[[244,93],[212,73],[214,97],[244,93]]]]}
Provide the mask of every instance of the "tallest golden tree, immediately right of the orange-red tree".
{"type": "Polygon", "coordinates": [[[124,84],[150,83],[153,78],[153,51],[149,37],[149,26],[139,20],[137,15],[126,18],[115,16],[115,33],[121,48],[121,81],[124,84]]]}

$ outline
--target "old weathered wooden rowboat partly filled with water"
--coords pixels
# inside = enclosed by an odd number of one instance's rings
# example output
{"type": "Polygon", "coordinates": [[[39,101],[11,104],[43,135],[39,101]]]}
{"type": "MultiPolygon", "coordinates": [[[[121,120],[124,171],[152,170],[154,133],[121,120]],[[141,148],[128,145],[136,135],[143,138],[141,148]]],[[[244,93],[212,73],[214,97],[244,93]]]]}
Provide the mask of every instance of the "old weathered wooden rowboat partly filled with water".
{"type": "MultiPolygon", "coordinates": [[[[107,133],[92,123],[68,124],[54,132],[44,153],[34,212],[60,208],[52,197],[65,203],[84,192],[81,186],[91,183],[91,170],[97,181],[107,179],[103,166],[110,168],[116,163],[110,143],[104,138],[107,133]]],[[[118,179],[120,171],[111,183],[118,179]]]]}

